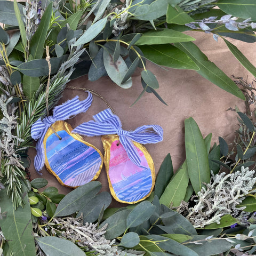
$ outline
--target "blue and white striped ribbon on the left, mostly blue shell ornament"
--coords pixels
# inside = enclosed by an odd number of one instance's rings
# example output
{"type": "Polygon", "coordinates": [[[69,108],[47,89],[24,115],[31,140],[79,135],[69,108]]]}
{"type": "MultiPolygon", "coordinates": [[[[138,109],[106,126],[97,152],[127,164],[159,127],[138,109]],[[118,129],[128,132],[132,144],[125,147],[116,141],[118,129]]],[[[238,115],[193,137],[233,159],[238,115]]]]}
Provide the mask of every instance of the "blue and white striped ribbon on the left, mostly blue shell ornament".
{"type": "Polygon", "coordinates": [[[88,92],[88,97],[80,101],[79,97],[66,101],[60,106],[53,109],[52,116],[46,116],[41,120],[39,118],[31,127],[31,137],[34,140],[38,140],[36,143],[37,155],[35,157],[34,165],[37,172],[41,171],[44,166],[45,154],[43,140],[49,127],[56,121],[64,121],[71,116],[79,113],[86,112],[92,104],[92,94],[88,92]]]}

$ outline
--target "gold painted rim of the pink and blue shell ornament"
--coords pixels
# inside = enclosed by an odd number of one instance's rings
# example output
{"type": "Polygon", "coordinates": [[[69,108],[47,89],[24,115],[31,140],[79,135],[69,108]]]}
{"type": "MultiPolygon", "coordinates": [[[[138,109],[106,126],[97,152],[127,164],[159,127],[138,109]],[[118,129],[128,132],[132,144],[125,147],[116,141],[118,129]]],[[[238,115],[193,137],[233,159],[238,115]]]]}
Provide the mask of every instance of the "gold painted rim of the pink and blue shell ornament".
{"type": "Polygon", "coordinates": [[[103,135],[101,137],[101,141],[103,143],[103,148],[104,148],[104,151],[105,151],[104,164],[105,164],[105,169],[106,169],[106,173],[107,173],[108,185],[109,185],[110,193],[114,197],[114,199],[116,201],[118,201],[118,202],[126,203],[126,204],[135,204],[135,203],[138,203],[140,201],[145,200],[152,193],[152,191],[154,189],[154,186],[155,186],[155,180],[156,180],[155,165],[154,165],[153,159],[150,156],[150,154],[148,153],[147,149],[143,145],[141,145],[140,143],[132,141],[134,146],[139,148],[142,151],[142,153],[144,154],[144,156],[145,156],[145,158],[147,160],[147,163],[148,163],[148,166],[150,168],[151,175],[152,175],[152,186],[151,186],[151,189],[150,189],[149,193],[146,196],[144,196],[141,199],[139,199],[138,201],[126,202],[126,201],[123,201],[123,200],[119,199],[116,196],[116,193],[114,191],[114,188],[113,188],[112,183],[111,183],[110,178],[109,178],[110,147],[111,147],[111,144],[114,141],[116,141],[116,140],[119,140],[119,136],[116,135],[116,134],[103,135]]]}

